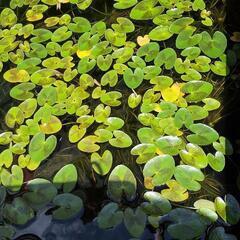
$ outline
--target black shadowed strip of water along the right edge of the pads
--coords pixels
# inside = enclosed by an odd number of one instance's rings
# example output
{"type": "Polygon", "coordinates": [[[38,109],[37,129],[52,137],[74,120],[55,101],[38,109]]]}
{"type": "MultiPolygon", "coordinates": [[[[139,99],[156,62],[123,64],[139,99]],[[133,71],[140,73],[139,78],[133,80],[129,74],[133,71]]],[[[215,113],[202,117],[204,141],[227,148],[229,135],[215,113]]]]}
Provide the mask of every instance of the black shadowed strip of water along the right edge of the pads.
{"type": "MultiPolygon", "coordinates": [[[[240,2],[226,0],[225,31],[228,34],[228,65],[230,74],[223,91],[224,109],[222,119],[215,128],[233,144],[234,154],[226,161],[224,170],[224,187],[240,201],[240,42],[234,43],[230,37],[240,32],[240,2]],[[237,56],[233,64],[232,54],[237,56]]],[[[232,233],[240,237],[240,224],[232,227],[232,233]]]]}

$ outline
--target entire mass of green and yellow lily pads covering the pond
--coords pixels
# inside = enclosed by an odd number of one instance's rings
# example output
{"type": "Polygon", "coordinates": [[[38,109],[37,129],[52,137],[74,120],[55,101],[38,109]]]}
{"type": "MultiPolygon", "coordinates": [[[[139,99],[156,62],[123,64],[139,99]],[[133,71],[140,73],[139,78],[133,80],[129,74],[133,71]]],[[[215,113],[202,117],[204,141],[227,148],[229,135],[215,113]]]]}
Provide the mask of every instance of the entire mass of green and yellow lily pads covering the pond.
{"type": "Polygon", "coordinates": [[[0,134],[0,237],[10,238],[11,225],[27,224],[47,204],[56,220],[83,212],[82,199],[71,193],[74,164],[48,180],[24,176],[54,157],[67,129],[94,174],[107,180],[111,202],[97,216],[99,227],[124,222],[139,238],[147,224],[164,223],[173,239],[187,240],[214,223],[209,239],[236,239],[221,227],[240,218],[232,195],[195,199],[192,210],[171,204],[184,207],[206,172],[221,172],[232,154],[206,121],[221,105],[212,79],[229,69],[227,39],[213,30],[205,1],[115,0],[113,22],[83,17],[92,2],[11,0],[0,13],[0,69],[14,99],[0,134]],[[79,15],[63,13],[65,7],[79,15]],[[117,165],[118,149],[129,160],[117,165]],[[127,164],[132,159],[140,177],[127,164]],[[132,202],[140,203],[132,208],[132,202]]]}

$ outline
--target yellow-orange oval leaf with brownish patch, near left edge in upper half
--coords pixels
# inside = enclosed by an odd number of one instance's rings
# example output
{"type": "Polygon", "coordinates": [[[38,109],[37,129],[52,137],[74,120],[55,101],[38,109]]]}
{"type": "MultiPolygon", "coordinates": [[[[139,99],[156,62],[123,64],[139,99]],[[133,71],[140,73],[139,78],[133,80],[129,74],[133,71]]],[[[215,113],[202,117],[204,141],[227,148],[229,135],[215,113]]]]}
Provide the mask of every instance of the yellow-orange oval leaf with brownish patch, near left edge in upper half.
{"type": "Polygon", "coordinates": [[[6,81],[11,83],[27,82],[30,80],[28,72],[24,69],[12,68],[3,74],[6,81]]]}

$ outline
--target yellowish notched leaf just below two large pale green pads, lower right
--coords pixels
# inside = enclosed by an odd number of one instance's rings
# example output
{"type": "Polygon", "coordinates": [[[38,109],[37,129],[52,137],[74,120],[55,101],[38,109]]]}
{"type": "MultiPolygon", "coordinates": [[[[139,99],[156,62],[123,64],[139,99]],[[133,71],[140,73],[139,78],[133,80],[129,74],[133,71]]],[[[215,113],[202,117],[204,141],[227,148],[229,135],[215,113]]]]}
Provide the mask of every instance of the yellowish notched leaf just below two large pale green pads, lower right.
{"type": "Polygon", "coordinates": [[[181,186],[177,181],[171,179],[166,182],[168,189],[163,189],[161,194],[172,202],[183,202],[188,199],[189,194],[186,188],[181,186]]]}

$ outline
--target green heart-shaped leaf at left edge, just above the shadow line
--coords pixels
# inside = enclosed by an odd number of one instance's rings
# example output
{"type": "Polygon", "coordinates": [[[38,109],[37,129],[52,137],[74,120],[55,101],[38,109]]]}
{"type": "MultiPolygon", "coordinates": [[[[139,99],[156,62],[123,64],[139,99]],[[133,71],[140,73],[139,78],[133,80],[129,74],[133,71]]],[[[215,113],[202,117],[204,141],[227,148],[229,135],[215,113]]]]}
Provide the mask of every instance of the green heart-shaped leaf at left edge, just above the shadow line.
{"type": "Polygon", "coordinates": [[[11,167],[11,173],[5,168],[1,169],[1,183],[12,192],[18,192],[23,184],[23,171],[17,166],[11,167]]]}

